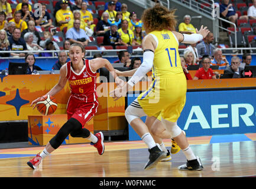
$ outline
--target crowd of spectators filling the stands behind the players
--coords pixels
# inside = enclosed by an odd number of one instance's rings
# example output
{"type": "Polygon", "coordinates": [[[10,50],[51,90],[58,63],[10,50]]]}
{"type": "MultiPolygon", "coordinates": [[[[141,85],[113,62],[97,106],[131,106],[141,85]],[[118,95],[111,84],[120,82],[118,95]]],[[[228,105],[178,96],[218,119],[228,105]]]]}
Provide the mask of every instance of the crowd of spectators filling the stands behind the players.
{"type": "MultiPolygon", "coordinates": [[[[29,50],[38,51],[34,57],[59,57],[54,69],[63,64],[72,43],[80,43],[85,48],[90,45],[140,47],[145,37],[143,23],[135,11],[129,12],[127,4],[121,4],[118,0],[106,2],[104,5],[95,5],[96,1],[86,0],[60,0],[53,4],[40,3],[40,11],[31,6],[30,0],[22,0],[20,4],[11,5],[5,0],[0,1],[0,50],[29,50]],[[98,43],[96,38],[102,37],[98,43]],[[93,43],[94,42],[94,43],[93,43]],[[58,53],[40,52],[42,50],[58,50],[58,53]],[[61,57],[61,58],[60,58],[61,57]],[[64,58],[65,57],[65,58],[64,58]],[[60,60],[61,59],[61,60],[60,60]]],[[[256,19],[256,0],[248,7],[248,15],[238,15],[234,4],[229,0],[223,0],[220,4],[221,16],[236,24],[238,19],[256,19]]],[[[183,21],[177,30],[183,34],[193,34],[196,29],[190,15],[184,15],[183,21]]],[[[222,49],[213,45],[214,37],[210,32],[199,43],[186,45],[186,49],[180,56],[182,67],[187,79],[192,79],[188,66],[199,65],[200,73],[215,79],[218,73],[213,73],[210,66],[218,66],[218,69],[231,71],[235,66],[222,56],[222,49]],[[230,70],[231,69],[231,70],[230,70]]],[[[1,57],[25,57],[26,53],[0,53],[1,57]]],[[[131,54],[127,50],[119,51],[118,61],[124,67],[133,69],[139,60],[132,61],[131,54]]],[[[140,59],[140,58],[139,58],[140,59]]],[[[251,55],[245,54],[241,69],[251,63],[251,55]]],[[[236,61],[236,60],[234,60],[236,61]]],[[[234,73],[236,73],[236,69],[234,73]]],[[[242,76],[241,76],[242,77],[242,76]]],[[[193,79],[202,79],[199,72],[193,79]],[[198,76],[198,77],[197,77],[198,76]]]]}

